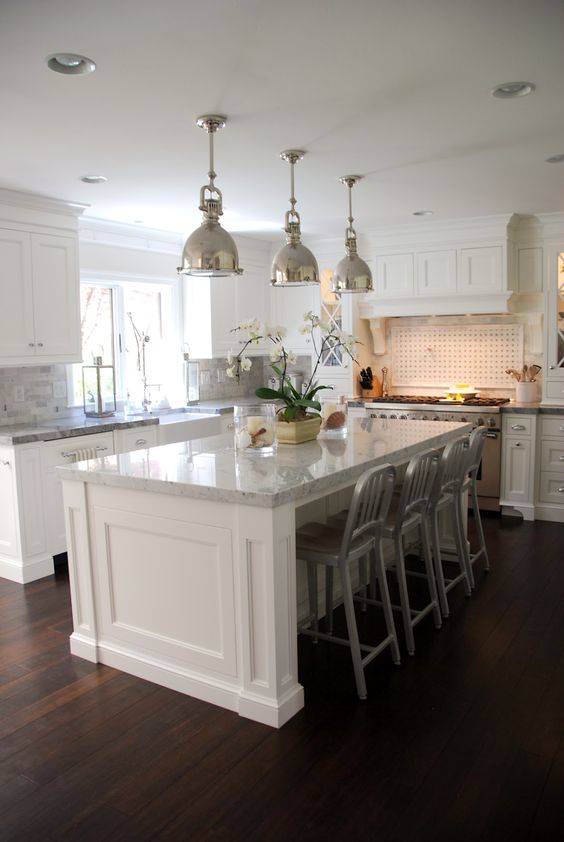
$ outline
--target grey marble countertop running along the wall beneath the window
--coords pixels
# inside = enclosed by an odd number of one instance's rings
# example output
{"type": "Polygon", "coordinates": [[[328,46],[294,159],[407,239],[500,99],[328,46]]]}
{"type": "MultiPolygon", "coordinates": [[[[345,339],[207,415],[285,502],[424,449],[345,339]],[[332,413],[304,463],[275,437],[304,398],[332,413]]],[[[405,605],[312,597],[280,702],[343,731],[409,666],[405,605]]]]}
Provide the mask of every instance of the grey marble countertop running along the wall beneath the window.
{"type": "Polygon", "coordinates": [[[42,424],[12,424],[0,427],[0,445],[10,446],[38,441],[54,441],[155,424],[201,421],[204,418],[212,418],[214,415],[214,412],[193,412],[192,407],[190,407],[188,410],[166,410],[155,414],[124,415],[122,412],[116,412],[115,415],[107,418],[86,418],[83,415],[52,419],[42,424]]]}

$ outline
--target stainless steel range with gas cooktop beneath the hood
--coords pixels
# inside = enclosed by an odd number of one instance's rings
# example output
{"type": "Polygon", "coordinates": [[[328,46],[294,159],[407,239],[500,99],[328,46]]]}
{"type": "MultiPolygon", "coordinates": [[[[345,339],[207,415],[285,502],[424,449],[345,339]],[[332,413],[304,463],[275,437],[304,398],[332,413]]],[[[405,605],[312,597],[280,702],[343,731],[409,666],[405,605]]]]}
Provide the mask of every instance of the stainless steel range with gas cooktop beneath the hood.
{"type": "Polygon", "coordinates": [[[414,421],[461,421],[488,431],[478,474],[480,508],[499,511],[501,482],[501,415],[508,398],[468,398],[465,401],[417,395],[392,395],[365,404],[371,418],[409,418],[414,421]]]}

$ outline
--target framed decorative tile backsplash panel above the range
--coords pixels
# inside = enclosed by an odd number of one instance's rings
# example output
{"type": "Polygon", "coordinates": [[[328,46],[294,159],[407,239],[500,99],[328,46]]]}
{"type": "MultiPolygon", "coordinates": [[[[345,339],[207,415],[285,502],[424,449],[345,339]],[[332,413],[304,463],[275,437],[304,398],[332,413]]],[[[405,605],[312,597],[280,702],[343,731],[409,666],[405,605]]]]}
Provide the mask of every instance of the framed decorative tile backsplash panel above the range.
{"type": "Polygon", "coordinates": [[[505,369],[523,366],[523,325],[392,327],[394,387],[507,388],[505,369]]]}

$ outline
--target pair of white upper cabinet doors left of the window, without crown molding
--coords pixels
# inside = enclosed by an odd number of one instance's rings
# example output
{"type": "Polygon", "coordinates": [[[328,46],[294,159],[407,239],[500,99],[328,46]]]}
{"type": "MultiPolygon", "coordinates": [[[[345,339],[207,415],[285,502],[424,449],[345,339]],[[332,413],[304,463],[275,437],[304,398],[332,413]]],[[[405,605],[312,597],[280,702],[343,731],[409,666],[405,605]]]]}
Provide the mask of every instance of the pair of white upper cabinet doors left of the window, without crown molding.
{"type": "Polygon", "coordinates": [[[0,230],[0,365],[79,362],[76,238],[0,230]]]}

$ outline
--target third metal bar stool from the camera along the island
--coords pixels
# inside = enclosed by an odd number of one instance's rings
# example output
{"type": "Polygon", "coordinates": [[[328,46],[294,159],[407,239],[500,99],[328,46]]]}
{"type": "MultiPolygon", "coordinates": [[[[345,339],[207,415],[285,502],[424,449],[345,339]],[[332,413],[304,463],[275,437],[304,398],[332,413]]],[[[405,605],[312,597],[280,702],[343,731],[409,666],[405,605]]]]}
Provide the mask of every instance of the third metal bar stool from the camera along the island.
{"type": "Polygon", "coordinates": [[[470,596],[472,593],[470,586],[470,556],[463,511],[463,485],[468,476],[468,452],[469,442],[467,436],[447,444],[439,462],[437,481],[427,510],[431,530],[431,546],[437,580],[437,592],[443,617],[448,617],[449,615],[447,593],[456,587],[456,585],[460,583],[464,584],[466,596],[470,596]],[[453,578],[448,578],[445,575],[443,567],[443,560],[450,557],[451,553],[447,553],[441,549],[439,534],[439,516],[441,512],[448,512],[451,515],[452,537],[455,547],[452,560],[458,562],[460,569],[458,575],[453,578]]]}

